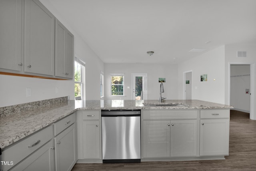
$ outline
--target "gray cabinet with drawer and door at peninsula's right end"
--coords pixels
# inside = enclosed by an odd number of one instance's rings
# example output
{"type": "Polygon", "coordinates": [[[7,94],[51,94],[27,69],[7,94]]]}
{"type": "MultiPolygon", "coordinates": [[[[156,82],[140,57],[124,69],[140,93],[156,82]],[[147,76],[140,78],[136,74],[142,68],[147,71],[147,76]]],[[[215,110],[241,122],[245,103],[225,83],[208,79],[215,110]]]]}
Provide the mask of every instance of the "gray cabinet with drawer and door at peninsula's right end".
{"type": "Polygon", "coordinates": [[[200,118],[200,156],[228,155],[230,110],[201,110],[200,118]]]}

